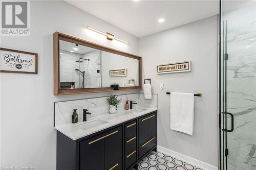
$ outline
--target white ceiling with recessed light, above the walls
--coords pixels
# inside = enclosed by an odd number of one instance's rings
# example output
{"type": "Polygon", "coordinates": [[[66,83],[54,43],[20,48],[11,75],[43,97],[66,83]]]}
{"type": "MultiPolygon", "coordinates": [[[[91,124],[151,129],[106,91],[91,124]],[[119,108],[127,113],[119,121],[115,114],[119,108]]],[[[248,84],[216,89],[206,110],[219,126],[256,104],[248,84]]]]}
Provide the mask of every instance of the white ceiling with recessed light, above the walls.
{"type": "MultiPolygon", "coordinates": [[[[154,34],[219,13],[219,0],[67,2],[136,37],[154,34]],[[160,18],[165,21],[159,23],[160,18]]],[[[225,1],[223,7],[225,11],[229,11],[248,3],[251,2],[225,1]]]]}

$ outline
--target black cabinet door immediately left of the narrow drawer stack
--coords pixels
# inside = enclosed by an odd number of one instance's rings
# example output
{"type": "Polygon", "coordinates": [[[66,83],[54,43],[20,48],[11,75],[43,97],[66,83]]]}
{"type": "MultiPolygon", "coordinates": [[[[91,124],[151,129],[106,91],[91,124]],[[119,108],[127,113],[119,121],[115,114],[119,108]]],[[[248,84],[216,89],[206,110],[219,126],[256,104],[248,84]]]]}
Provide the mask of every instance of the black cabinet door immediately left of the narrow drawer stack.
{"type": "Polygon", "coordinates": [[[110,130],[105,134],[104,140],[105,169],[110,169],[113,166],[113,164],[116,164],[117,161],[122,158],[122,128],[118,127],[113,130],[110,130]]]}

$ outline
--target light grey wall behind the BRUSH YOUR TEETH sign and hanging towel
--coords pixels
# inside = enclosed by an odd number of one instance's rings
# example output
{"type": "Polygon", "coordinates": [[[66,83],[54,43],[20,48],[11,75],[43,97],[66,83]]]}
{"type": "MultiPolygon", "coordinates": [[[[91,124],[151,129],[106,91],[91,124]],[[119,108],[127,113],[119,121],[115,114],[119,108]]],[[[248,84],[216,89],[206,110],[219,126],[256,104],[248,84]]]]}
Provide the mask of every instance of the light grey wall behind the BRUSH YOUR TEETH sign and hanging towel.
{"type": "Polygon", "coordinates": [[[143,78],[151,78],[159,94],[158,144],[166,149],[218,166],[218,55],[217,16],[139,38],[143,78]],[[191,72],[156,74],[158,64],[191,60],[191,72]],[[164,92],[160,92],[164,83],[164,92]],[[202,92],[195,96],[194,135],[170,130],[170,95],[165,92],[202,92]]]}

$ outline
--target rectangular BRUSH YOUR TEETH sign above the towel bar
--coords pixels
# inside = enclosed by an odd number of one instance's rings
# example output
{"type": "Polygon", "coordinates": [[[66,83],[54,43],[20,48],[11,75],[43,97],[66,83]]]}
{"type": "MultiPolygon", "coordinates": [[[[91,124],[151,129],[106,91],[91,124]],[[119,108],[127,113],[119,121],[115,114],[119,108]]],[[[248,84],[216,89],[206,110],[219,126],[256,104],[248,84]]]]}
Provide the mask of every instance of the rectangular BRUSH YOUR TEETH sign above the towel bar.
{"type": "Polygon", "coordinates": [[[162,64],[157,66],[157,74],[189,72],[189,71],[191,71],[190,61],[171,63],[171,64],[162,64]]]}

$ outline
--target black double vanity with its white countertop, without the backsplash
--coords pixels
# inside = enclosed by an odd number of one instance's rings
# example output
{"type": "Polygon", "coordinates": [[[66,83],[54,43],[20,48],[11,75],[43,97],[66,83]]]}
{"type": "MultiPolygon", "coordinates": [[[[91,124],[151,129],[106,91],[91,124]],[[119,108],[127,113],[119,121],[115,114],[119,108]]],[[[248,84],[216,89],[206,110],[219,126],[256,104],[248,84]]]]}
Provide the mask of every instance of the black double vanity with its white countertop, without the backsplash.
{"type": "Polygon", "coordinates": [[[157,109],[153,108],[122,110],[55,129],[57,170],[137,169],[139,160],[157,150],[157,109]]]}

